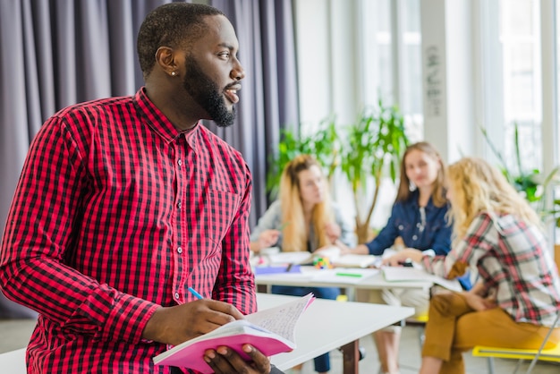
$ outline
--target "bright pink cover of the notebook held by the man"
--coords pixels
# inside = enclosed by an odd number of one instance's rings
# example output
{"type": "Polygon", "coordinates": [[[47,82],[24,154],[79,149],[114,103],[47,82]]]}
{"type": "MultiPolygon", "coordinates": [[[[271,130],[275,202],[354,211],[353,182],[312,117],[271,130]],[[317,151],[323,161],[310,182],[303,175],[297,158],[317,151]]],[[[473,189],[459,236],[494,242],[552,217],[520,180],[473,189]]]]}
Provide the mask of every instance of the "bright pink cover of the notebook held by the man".
{"type": "Polygon", "coordinates": [[[249,334],[240,334],[236,336],[221,336],[210,340],[203,340],[195,344],[188,345],[173,355],[170,355],[162,361],[156,362],[157,365],[178,366],[198,370],[202,373],[214,372],[208,363],[202,358],[204,352],[208,349],[216,349],[220,345],[232,348],[235,352],[240,353],[244,359],[248,359],[247,354],[242,352],[243,344],[251,344],[257,347],[260,352],[267,356],[276,353],[290,352],[293,346],[284,344],[270,336],[254,336],[249,334]]]}

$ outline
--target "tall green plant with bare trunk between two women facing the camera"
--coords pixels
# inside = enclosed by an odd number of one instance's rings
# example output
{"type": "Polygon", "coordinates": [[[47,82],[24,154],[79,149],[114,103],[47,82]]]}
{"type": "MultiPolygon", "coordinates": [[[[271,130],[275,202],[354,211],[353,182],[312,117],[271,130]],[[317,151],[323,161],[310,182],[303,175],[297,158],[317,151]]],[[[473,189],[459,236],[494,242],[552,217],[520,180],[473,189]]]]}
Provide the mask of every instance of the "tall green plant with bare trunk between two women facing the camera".
{"type": "Polygon", "coordinates": [[[373,111],[364,111],[347,128],[347,132],[340,166],[352,187],[358,242],[367,242],[369,222],[378,202],[382,178],[388,174],[395,183],[400,159],[409,140],[398,107],[384,106],[381,100],[373,111]],[[370,204],[364,204],[366,183],[371,179],[375,186],[373,200],[370,204]],[[364,206],[367,207],[367,213],[361,217],[359,212],[364,206]]]}

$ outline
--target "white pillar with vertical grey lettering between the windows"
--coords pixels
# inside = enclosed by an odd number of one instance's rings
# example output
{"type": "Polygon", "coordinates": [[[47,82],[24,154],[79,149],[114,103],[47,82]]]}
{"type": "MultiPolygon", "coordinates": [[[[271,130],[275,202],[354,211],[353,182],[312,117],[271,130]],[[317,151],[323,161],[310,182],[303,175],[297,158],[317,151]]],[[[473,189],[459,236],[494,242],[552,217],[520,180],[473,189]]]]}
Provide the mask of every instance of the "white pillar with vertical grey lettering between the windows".
{"type": "Polygon", "coordinates": [[[447,162],[474,151],[470,0],[422,0],[424,135],[447,162]]]}

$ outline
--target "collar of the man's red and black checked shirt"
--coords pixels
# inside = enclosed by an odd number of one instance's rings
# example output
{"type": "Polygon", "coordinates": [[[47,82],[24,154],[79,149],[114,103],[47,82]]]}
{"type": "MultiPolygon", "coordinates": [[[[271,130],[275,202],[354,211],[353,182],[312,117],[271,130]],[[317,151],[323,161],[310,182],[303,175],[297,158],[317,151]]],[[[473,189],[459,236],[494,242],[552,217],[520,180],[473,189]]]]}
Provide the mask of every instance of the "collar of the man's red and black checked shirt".
{"type": "Polygon", "coordinates": [[[154,105],[146,94],[146,87],[142,87],[134,96],[136,106],[145,116],[148,126],[165,139],[167,144],[179,139],[184,135],[185,140],[195,152],[197,151],[197,133],[201,126],[197,123],[192,129],[180,131],[171,121],[154,105]]]}

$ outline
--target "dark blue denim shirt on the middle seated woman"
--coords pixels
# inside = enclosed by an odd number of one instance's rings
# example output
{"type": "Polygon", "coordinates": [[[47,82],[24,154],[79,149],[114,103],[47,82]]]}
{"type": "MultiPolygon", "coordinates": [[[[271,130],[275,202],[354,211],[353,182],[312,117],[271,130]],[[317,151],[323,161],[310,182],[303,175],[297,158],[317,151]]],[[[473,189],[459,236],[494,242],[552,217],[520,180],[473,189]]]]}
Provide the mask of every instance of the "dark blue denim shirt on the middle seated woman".
{"type": "Polygon", "coordinates": [[[393,245],[398,236],[403,238],[407,248],[433,250],[437,255],[445,255],[450,251],[452,227],[445,220],[448,204],[438,208],[430,198],[425,207],[425,223],[422,225],[419,195],[419,191],[413,191],[408,200],[395,202],[386,226],[373,241],[366,243],[370,254],[382,254],[393,245]]]}

